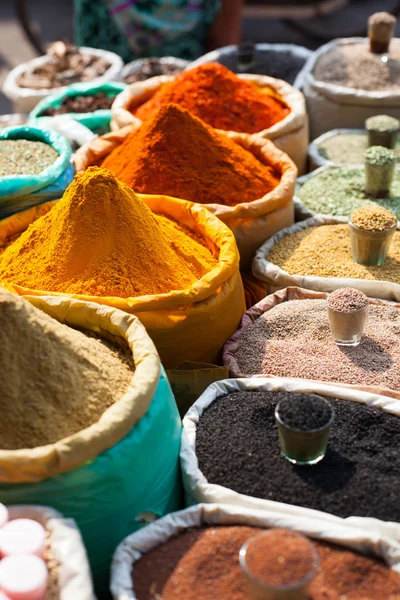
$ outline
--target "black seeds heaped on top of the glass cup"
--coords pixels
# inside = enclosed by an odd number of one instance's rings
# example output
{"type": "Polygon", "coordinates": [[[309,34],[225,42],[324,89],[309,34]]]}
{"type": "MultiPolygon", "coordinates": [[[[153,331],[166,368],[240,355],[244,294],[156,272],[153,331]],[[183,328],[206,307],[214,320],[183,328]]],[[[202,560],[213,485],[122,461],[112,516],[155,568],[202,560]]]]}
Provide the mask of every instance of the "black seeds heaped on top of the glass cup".
{"type": "Polygon", "coordinates": [[[280,401],[279,418],[287,427],[310,431],[328,423],[332,408],[317,394],[287,394],[280,401]]]}

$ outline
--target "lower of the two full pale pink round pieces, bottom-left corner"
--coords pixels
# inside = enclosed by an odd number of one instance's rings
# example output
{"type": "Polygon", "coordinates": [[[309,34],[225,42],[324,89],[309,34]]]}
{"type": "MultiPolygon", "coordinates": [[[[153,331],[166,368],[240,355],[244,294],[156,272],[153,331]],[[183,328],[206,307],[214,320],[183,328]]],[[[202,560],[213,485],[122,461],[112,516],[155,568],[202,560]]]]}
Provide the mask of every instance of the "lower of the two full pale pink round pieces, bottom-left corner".
{"type": "Polygon", "coordinates": [[[46,563],[37,556],[7,556],[0,561],[0,588],[10,600],[44,600],[46,563]]]}

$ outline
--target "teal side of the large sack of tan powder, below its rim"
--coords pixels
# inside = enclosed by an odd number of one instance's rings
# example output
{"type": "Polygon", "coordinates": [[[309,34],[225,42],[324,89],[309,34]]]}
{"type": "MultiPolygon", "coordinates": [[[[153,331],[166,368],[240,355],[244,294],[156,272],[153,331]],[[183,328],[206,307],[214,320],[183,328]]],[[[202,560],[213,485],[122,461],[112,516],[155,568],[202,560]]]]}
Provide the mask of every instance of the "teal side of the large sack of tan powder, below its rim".
{"type": "Polygon", "coordinates": [[[145,416],[113,448],[68,473],[38,483],[0,484],[4,504],[41,504],[76,520],[99,600],[110,598],[109,568],[117,545],[142,527],[141,514],[183,507],[181,420],[164,369],[145,416]]]}

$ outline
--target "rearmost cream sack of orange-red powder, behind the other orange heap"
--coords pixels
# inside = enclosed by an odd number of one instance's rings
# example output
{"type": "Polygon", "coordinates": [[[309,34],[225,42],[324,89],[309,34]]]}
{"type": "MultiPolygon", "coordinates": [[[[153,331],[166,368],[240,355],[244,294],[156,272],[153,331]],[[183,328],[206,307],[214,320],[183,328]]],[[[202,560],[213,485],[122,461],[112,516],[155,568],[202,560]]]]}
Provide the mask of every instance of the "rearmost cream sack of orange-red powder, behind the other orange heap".
{"type": "Polygon", "coordinates": [[[216,63],[176,77],[134,83],[112,107],[112,129],[141,124],[165,104],[179,104],[211,127],[258,134],[306,171],[308,119],[302,93],[288,83],[259,75],[237,76],[216,63]]]}

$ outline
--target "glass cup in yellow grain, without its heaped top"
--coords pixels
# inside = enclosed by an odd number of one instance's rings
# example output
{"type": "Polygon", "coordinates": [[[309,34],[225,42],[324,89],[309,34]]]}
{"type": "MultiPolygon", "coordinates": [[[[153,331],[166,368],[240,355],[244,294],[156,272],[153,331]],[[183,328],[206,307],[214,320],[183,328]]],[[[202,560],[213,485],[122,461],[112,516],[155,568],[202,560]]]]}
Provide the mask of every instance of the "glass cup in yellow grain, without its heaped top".
{"type": "Polygon", "coordinates": [[[351,254],[359,265],[381,266],[385,263],[397,223],[384,231],[360,229],[349,221],[351,254]]]}

